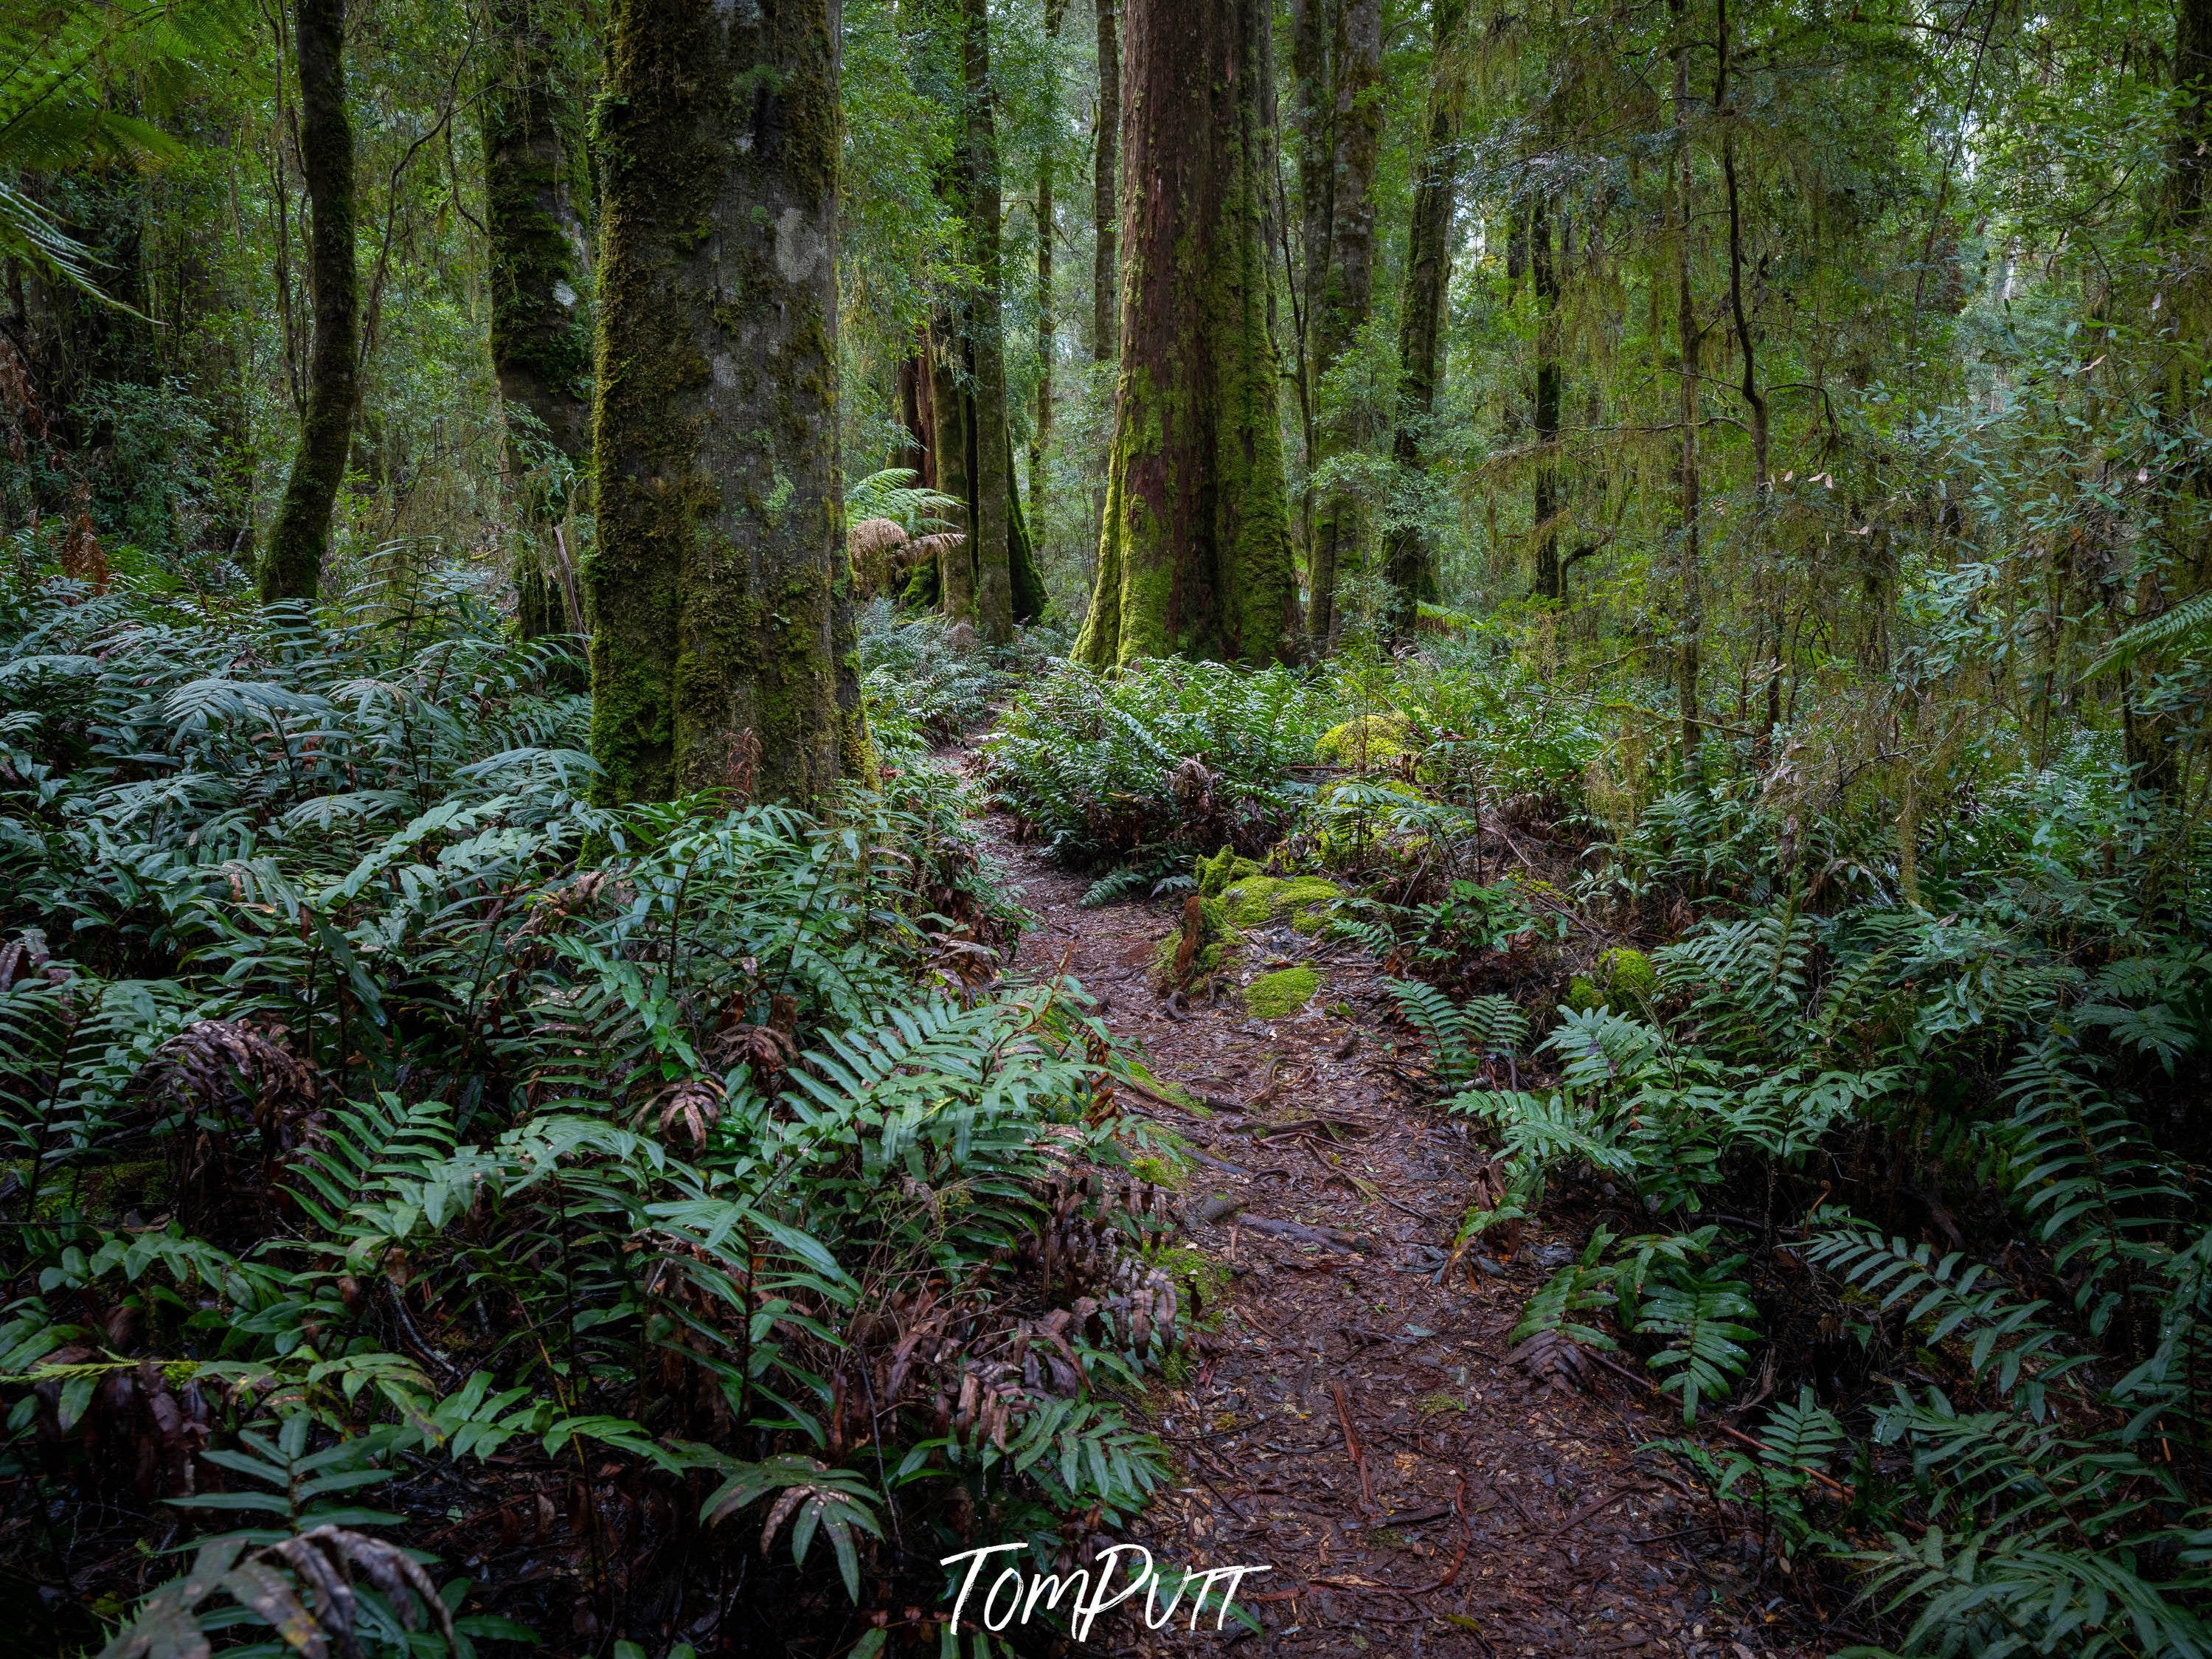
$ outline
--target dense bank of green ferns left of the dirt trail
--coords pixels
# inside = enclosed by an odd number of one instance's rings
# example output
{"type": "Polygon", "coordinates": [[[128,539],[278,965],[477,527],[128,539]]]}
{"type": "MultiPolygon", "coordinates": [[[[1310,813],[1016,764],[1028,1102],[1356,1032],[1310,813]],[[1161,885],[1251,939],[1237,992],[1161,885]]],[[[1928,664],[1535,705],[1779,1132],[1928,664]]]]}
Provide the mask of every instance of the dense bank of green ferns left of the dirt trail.
{"type": "Polygon", "coordinates": [[[0,595],[18,1630],[872,1652],[1141,1506],[1177,1292],[922,750],[973,677],[823,818],[606,810],[568,644],[418,564],[327,615],[0,595]]]}

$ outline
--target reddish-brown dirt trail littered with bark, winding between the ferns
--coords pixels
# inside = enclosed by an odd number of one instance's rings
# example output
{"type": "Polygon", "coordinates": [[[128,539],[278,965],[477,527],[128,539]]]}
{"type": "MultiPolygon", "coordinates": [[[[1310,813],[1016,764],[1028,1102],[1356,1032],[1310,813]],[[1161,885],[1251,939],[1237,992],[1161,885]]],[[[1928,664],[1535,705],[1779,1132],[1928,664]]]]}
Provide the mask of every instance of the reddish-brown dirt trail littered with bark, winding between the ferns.
{"type": "MultiPolygon", "coordinates": [[[[1210,1159],[1183,1210],[1190,1243],[1228,1274],[1217,1352],[1152,1394],[1148,1427],[1179,1467],[1137,1535],[1177,1562],[1274,1568],[1241,1597],[1267,1637],[1237,1646],[1484,1659],[1827,1650],[1787,1579],[1759,1584],[1710,1504],[1632,1455],[1679,1433],[1668,1402],[1615,1376],[1557,1394],[1506,1363],[1522,1303],[1582,1230],[1524,1239],[1495,1276],[1447,1270],[1480,1150],[1402,1073],[1413,1044],[1367,958],[1287,927],[1259,933],[1248,967],[1312,962],[1312,1004],[1259,1022],[1201,1002],[1177,1020],[1146,978],[1172,927],[1161,905],[1082,909],[1084,878],[1013,845],[1002,821],[987,834],[1040,922],[1020,964],[1082,978],[1157,1077],[1217,1104],[1194,1117],[1128,1102],[1210,1159]]],[[[1110,1615],[1093,1646],[1234,1641],[1186,1624],[1148,1635],[1110,1615]]]]}

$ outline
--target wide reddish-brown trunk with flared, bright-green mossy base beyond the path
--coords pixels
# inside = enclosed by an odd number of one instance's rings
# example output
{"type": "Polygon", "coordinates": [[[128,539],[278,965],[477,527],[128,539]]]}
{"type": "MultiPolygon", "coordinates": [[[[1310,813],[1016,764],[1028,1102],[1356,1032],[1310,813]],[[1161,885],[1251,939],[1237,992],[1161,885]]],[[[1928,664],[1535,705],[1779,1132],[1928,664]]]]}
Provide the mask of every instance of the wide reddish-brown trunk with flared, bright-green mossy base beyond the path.
{"type": "Polygon", "coordinates": [[[1296,582],[1267,341],[1265,0],[1128,0],[1121,378],[1075,657],[1279,661],[1296,582]]]}

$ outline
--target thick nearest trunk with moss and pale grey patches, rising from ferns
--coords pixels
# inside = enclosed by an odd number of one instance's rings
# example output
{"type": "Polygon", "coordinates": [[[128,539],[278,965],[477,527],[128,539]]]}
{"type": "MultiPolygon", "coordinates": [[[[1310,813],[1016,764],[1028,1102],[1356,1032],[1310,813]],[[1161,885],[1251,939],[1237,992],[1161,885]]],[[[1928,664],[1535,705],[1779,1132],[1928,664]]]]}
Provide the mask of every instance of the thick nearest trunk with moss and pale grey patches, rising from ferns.
{"type": "Polygon", "coordinates": [[[867,765],[836,420],[832,0],[613,0],[588,580],[602,796],[867,765]]]}

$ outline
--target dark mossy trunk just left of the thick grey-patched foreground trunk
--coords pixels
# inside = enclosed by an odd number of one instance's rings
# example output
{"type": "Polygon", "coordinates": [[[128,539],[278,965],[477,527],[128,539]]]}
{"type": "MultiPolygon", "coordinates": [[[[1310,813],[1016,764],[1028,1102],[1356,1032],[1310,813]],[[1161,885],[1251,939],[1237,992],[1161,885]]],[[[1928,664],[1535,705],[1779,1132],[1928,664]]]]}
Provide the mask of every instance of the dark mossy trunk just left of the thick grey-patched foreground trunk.
{"type": "MultiPolygon", "coordinates": [[[[493,0],[493,69],[484,86],[484,201],[491,232],[491,367],[509,425],[529,411],[577,476],[591,467],[591,319],[584,303],[584,226],[568,190],[575,97],[553,53],[553,0],[493,0]]],[[[509,445],[518,476],[531,462],[509,445]]],[[[515,564],[524,637],[582,624],[546,557],[553,500],[531,502],[531,535],[515,564]]]]}

